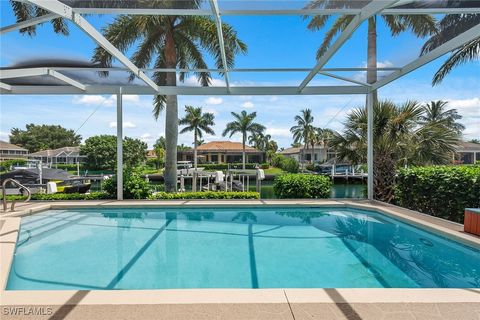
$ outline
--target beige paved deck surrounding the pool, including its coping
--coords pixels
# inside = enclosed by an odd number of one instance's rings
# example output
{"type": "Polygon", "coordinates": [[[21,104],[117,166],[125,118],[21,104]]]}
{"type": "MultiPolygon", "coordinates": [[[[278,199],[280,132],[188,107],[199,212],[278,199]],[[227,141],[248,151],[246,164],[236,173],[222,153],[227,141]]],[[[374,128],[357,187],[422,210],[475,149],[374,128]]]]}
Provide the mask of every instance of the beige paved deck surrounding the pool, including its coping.
{"type": "MultiPolygon", "coordinates": [[[[463,225],[366,200],[65,201],[0,214],[3,319],[475,319],[480,289],[172,289],[6,291],[22,216],[48,209],[135,206],[328,206],[374,210],[480,248],[463,225]]],[[[32,266],[35,267],[34,265],[32,266]]]]}

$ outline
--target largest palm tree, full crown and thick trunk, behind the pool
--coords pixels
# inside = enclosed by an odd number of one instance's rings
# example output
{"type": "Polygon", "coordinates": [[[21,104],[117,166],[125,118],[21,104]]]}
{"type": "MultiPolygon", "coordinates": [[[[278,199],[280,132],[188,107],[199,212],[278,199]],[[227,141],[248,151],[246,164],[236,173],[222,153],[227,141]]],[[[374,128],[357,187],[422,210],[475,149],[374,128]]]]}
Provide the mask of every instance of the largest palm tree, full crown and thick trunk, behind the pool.
{"type": "MultiPolygon", "coordinates": [[[[149,1],[155,2],[155,8],[198,9],[201,0],[192,1],[149,1]]],[[[220,45],[216,24],[207,16],[143,16],[121,15],[103,30],[104,36],[123,52],[133,45],[136,50],[131,60],[139,68],[151,64],[155,68],[196,68],[206,69],[208,65],[204,53],[209,53],[217,66],[223,68],[219,54],[220,45]]],[[[237,33],[228,24],[222,24],[227,66],[233,67],[235,55],[245,53],[247,46],[238,39],[237,33]]],[[[102,66],[112,65],[112,56],[101,47],[95,49],[93,62],[102,66]]],[[[194,73],[202,86],[211,83],[209,72],[194,73]]],[[[184,81],[185,72],[180,72],[178,80],[184,81]]],[[[134,75],[131,75],[131,80],[134,75]]],[[[176,86],[176,72],[156,71],[153,80],[160,86],[176,86]]],[[[177,141],[178,141],[178,101],[176,95],[156,95],[153,114],[158,119],[166,109],[166,159],[165,190],[173,192],[177,188],[177,141]]]]}

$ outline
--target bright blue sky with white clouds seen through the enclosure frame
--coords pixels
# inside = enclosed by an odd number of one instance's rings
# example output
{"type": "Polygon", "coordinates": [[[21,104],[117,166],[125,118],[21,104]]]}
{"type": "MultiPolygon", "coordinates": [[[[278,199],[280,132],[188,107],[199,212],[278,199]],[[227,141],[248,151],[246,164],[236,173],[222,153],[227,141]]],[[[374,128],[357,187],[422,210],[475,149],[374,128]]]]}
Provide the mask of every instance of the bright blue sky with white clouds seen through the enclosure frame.
{"type": "MultiPolygon", "coordinates": [[[[299,8],[303,2],[298,2],[299,8]]],[[[1,25],[15,22],[9,2],[0,0],[1,25]]],[[[112,22],[115,16],[87,16],[97,29],[112,22]]],[[[315,53],[324,36],[324,30],[307,30],[307,21],[299,16],[224,16],[238,37],[248,45],[248,53],[236,58],[238,68],[291,67],[311,68],[315,65],[315,53]]],[[[333,20],[332,20],[333,21],[333,20]]],[[[68,58],[89,61],[95,43],[82,31],[69,25],[68,37],[57,35],[50,24],[37,29],[34,37],[10,32],[0,38],[0,65],[8,67],[29,59],[68,58]]],[[[378,24],[378,65],[401,67],[418,57],[425,39],[417,39],[409,33],[393,38],[383,22],[378,24]]],[[[362,25],[351,39],[337,52],[326,67],[364,67],[366,64],[366,26],[362,25]]],[[[131,50],[127,52],[127,56],[131,50]]],[[[464,139],[480,138],[480,62],[471,62],[455,69],[440,85],[432,87],[435,71],[446,59],[444,56],[432,63],[396,80],[379,90],[380,99],[403,103],[415,100],[426,103],[431,100],[449,101],[463,116],[464,139]]],[[[209,67],[214,67],[207,58],[209,67]]],[[[358,80],[365,79],[362,73],[338,73],[358,80]]],[[[385,74],[381,74],[384,76],[385,74]]],[[[126,77],[126,74],[118,74],[126,77]]],[[[218,74],[213,74],[213,85],[224,85],[218,74]]],[[[299,85],[306,73],[231,73],[232,85],[299,85]]],[[[345,85],[343,81],[325,76],[316,76],[311,85],[345,85]]],[[[198,85],[193,76],[187,77],[184,85],[198,85]]],[[[164,135],[165,114],[155,120],[152,115],[152,96],[124,96],[124,134],[139,138],[151,147],[164,135]]],[[[341,130],[342,122],[350,110],[365,103],[363,95],[336,96],[179,96],[179,114],[184,106],[200,106],[215,115],[216,135],[207,135],[205,141],[226,140],[221,136],[226,123],[232,120],[231,112],[257,112],[257,122],[266,126],[266,132],[280,147],[292,143],[290,127],[300,110],[310,108],[314,125],[341,130]]],[[[8,140],[12,128],[25,128],[28,123],[60,124],[77,131],[84,139],[98,134],[116,133],[115,96],[95,95],[1,95],[0,140],[8,140]]],[[[240,141],[240,136],[230,140],[240,141]]],[[[191,146],[193,135],[179,135],[179,144],[191,146]]]]}

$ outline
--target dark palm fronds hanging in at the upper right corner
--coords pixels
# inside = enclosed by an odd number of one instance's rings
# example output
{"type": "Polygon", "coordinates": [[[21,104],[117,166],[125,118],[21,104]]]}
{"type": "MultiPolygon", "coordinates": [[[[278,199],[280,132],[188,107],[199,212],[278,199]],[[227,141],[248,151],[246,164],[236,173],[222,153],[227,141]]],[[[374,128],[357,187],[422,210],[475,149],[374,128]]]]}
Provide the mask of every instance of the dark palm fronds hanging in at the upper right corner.
{"type": "MultiPolygon", "coordinates": [[[[454,1],[459,2],[459,1],[454,1]]],[[[463,3],[463,2],[462,2],[463,3]]],[[[449,14],[438,23],[439,31],[434,34],[424,45],[421,55],[424,55],[438,46],[444,44],[453,37],[478,25],[480,14],[449,14]]],[[[478,60],[480,53],[480,36],[467,42],[453,51],[452,55],[443,63],[435,73],[432,84],[437,85],[454,69],[469,61],[478,60]]]]}

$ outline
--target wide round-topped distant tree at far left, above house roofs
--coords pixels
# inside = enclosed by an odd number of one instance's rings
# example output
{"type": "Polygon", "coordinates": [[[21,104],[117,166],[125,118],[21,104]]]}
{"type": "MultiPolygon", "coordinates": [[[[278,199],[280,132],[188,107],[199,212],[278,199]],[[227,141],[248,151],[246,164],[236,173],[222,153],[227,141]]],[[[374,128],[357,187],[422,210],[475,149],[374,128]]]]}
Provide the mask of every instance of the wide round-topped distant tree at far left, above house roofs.
{"type": "Polygon", "coordinates": [[[29,152],[62,147],[75,147],[82,141],[82,136],[73,130],[59,125],[26,125],[26,130],[13,128],[10,133],[10,143],[22,146],[29,152]]]}

